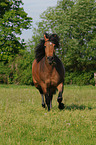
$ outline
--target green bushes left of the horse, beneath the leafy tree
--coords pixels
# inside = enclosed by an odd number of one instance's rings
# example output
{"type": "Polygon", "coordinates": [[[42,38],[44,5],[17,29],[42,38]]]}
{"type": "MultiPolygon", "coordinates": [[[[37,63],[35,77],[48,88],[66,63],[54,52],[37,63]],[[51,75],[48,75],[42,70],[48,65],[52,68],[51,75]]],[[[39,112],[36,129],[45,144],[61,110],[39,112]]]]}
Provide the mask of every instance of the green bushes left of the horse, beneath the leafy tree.
{"type": "Polygon", "coordinates": [[[23,52],[10,63],[0,62],[0,83],[32,85],[34,52],[23,52]]]}

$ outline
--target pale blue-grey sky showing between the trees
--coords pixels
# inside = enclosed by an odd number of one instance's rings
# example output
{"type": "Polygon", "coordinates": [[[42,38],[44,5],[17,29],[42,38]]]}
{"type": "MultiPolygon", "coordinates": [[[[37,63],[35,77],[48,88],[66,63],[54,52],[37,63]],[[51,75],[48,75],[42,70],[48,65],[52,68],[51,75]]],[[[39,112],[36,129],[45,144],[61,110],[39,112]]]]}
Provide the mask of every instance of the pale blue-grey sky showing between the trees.
{"type": "MultiPolygon", "coordinates": [[[[42,14],[48,7],[56,6],[58,0],[22,0],[24,5],[24,11],[28,13],[29,17],[33,18],[32,25],[35,27],[35,23],[40,21],[40,14],[42,14]]],[[[24,30],[21,39],[31,39],[32,29],[24,30]]]]}

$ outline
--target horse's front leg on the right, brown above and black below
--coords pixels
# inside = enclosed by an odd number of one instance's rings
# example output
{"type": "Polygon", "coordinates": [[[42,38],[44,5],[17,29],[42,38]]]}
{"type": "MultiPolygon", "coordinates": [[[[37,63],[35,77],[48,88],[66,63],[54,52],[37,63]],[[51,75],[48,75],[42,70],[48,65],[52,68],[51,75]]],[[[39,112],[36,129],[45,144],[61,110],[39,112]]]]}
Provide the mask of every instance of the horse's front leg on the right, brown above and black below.
{"type": "Polygon", "coordinates": [[[57,89],[59,91],[58,98],[57,98],[57,101],[59,103],[59,109],[64,109],[64,104],[62,103],[63,83],[59,84],[57,89]]]}

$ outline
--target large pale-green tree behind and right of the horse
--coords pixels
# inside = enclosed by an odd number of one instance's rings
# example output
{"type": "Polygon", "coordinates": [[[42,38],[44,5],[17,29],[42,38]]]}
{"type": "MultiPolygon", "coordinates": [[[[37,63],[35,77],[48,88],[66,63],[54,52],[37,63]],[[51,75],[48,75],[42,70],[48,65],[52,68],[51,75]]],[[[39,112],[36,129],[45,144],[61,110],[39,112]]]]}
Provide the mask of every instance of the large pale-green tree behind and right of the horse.
{"type": "Polygon", "coordinates": [[[89,81],[85,77],[83,84],[89,83],[96,71],[96,1],[61,0],[56,7],[43,12],[41,19],[34,38],[40,38],[44,31],[57,33],[61,44],[57,53],[65,65],[66,75],[71,76],[70,80],[78,77],[76,83],[88,72],[89,81]]]}

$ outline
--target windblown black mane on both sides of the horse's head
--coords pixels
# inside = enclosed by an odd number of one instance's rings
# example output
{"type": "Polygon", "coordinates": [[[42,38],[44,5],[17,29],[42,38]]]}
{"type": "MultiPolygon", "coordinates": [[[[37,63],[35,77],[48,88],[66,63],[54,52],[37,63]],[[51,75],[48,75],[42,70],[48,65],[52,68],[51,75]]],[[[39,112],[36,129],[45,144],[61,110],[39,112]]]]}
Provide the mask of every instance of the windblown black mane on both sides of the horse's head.
{"type": "MultiPolygon", "coordinates": [[[[47,34],[45,33],[46,37],[49,38],[49,41],[55,44],[55,47],[59,48],[59,37],[57,34],[47,34]]],[[[45,56],[45,40],[40,40],[40,43],[35,48],[35,58],[37,62],[39,62],[45,56]]]]}

